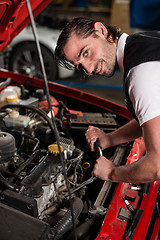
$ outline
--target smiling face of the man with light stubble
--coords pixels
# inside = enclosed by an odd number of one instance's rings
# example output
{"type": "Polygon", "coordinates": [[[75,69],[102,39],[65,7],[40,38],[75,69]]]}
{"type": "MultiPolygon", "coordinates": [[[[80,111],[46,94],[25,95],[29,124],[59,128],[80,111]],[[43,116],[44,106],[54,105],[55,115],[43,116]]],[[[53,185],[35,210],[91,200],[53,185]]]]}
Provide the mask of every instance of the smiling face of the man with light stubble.
{"type": "Polygon", "coordinates": [[[64,47],[66,59],[76,68],[83,68],[89,75],[111,77],[116,67],[117,41],[110,39],[111,42],[108,42],[104,31],[96,31],[96,34],[97,38],[93,35],[82,38],[72,33],[64,47]]]}

